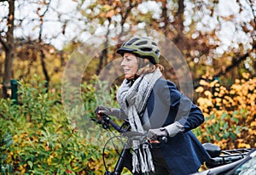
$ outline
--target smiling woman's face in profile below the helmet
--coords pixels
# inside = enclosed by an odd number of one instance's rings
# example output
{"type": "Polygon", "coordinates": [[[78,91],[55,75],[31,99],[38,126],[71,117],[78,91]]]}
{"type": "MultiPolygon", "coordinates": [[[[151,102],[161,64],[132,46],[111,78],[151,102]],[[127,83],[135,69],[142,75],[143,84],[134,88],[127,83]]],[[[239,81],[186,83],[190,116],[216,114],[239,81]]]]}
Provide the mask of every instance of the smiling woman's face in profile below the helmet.
{"type": "Polygon", "coordinates": [[[135,76],[138,69],[138,60],[134,54],[125,53],[121,62],[123,67],[125,78],[131,79],[135,76]]]}

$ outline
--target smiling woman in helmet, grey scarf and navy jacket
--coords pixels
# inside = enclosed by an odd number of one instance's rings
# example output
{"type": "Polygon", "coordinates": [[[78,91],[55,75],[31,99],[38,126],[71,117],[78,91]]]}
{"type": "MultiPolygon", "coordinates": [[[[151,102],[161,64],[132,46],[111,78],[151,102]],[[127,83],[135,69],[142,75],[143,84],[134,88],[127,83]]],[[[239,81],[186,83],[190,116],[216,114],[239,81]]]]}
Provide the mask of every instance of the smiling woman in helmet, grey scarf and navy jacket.
{"type": "Polygon", "coordinates": [[[162,77],[160,48],[145,37],[132,37],[117,50],[125,80],[117,92],[121,109],[99,106],[104,113],[129,119],[131,131],[148,132],[152,148],[133,142],[132,172],[177,174],[197,172],[207,151],[190,131],[204,121],[201,110],[162,77]],[[166,136],[167,143],[157,138],[166,136]]]}

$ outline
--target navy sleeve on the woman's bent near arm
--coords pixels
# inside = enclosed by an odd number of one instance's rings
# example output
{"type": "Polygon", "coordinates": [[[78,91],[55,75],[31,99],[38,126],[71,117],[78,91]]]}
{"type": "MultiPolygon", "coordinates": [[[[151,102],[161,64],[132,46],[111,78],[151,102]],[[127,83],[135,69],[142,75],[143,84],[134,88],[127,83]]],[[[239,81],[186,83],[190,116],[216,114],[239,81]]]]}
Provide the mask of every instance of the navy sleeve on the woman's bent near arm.
{"type": "Polygon", "coordinates": [[[198,127],[204,122],[201,110],[188,97],[180,93],[173,82],[166,81],[162,92],[162,99],[165,99],[166,103],[170,105],[170,116],[175,117],[174,121],[184,127],[184,132],[198,127]]]}

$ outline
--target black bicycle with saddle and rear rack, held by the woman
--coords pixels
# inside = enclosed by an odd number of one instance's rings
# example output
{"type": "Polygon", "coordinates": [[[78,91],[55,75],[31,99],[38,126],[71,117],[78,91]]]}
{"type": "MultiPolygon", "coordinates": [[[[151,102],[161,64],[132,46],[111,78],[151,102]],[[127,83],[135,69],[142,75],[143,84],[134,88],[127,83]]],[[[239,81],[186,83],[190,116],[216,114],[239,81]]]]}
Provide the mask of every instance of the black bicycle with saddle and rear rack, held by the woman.
{"type": "MultiPolygon", "coordinates": [[[[96,111],[97,112],[97,111],[96,111]]],[[[138,132],[131,132],[130,124],[128,120],[125,120],[120,126],[112,121],[109,116],[102,114],[102,118],[99,120],[91,118],[92,121],[95,121],[96,124],[102,125],[102,127],[106,130],[110,130],[110,127],[113,127],[118,133],[120,133],[120,137],[127,138],[127,141],[123,145],[123,149],[119,153],[119,159],[117,163],[115,164],[115,167],[113,169],[113,172],[108,171],[108,167],[106,166],[106,162],[104,159],[104,150],[106,147],[106,144],[112,139],[108,139],[107,143],[105,144],[103,151],[102,151],[102,157],[103,157],[103,164],[105,167],[106,172],[105,175],[120,175],[123,172],[123,169],[126,167],[130,172],[132,172],[132,166],[131,166],[131,152],[132,147],[132,141],[133,140],[140,140],[142,143],[150,144],[147,139],[146,133],[138,133],[138,132]]],[[[116,136],[114,136],[116,137],[116,136]]],[[[160,142],[167,142],[166,137],[157,138],[160,142]]],[[[223,174],[222,172],[228,172],[233,167],[236,167],[239,165],[240,161],[243,161],[244,159],[247,159],[247,155],[249,155],[250,151],[253,149],[236,149],[236,150],[221,150],[218,145],[211,144],[211,143],[205,143],[203,144],[204,148],[207,150],[208,154],[211,156],[210,159],[208,159],[205,163],[207,168],[217,168],[219,169],[214,170],[215,172],[219,173],[212,173],[212,174],[223,174]],[[232,164],[233,163],[233,164],[232,164]],[[229,167],[227,167],[229,165],[229,167]],[[226,167],[224,167],[226,166],[226,167]]],[[[253,150],[256,152],[256,150],[253,150]]],[[[139,174],[139,173],[134,173],[139,174]]],[[[197,174],[197,173],[195,173],[197,174]]],[[[199,174],[201,174],[199,172],[199,174]]],[[[211,174],[211,173],[203,173],[203,174],[211,174]]]]}

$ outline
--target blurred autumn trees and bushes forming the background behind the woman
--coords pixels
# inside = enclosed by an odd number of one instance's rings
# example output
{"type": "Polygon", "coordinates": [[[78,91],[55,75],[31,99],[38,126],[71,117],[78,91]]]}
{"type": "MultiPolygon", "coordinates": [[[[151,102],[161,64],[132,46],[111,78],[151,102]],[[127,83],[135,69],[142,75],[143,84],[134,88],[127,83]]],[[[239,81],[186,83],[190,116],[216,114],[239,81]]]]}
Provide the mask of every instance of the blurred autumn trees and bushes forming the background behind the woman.
{"type": "MultiPolygon", "coordinates": [[[[222,149],[256,147],[253,1],[0,0],[0,8],[1,174],[104,172],[101,154],[108,133],[90,117],[99,101],[119,107],[115,86],[122,77],[100,100],[96,82],[131,35],[157,38],[154,34],[160,33],[183,54],[193,78],[193,101],[206,118],[193,130],[201,143],[222,149]],[[83,44],[90,46],[84,53],[99,50],[80,85],[86,114],[76,116],[73,106],[70,118],[62,105],[61,78],[73,51],[83,44]],[[11,79],[19,82],[18,104],[9,98],[11,79]]],[[[87,59],[90,55],[84,55],[87,59]]],[[[177,80],[165,60],[161,64],[166,79],[185,81],[177,80]]],[[[109,148],[107,156],[113,168],[117,155],[109,148]]]]}

